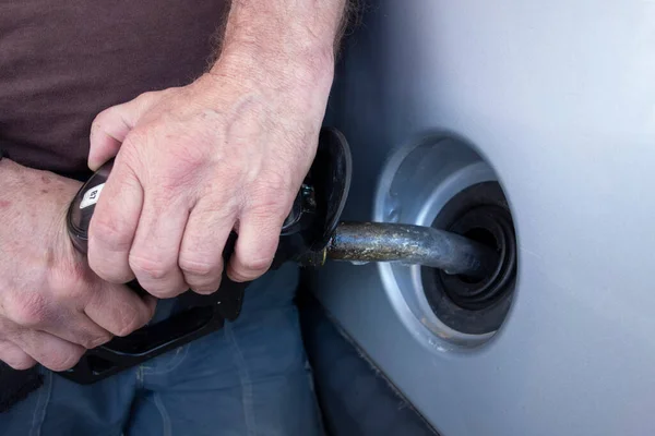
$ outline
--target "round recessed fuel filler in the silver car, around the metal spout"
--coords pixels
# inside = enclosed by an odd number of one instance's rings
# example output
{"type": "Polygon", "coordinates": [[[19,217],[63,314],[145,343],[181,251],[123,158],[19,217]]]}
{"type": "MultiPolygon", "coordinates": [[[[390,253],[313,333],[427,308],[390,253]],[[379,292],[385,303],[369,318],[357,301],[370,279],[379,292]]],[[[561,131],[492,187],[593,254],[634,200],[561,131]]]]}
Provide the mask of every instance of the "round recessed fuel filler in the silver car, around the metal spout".
{"type": "Polygon", "coordinates": [[[511,316],[520,263],[514,211],[479,146],[452,132],[426,132],[396,149],[378,185],[374,221],[458,233],[499,254],[496,267],[486,268],[491,272],[481,278],[418,265],[378,265],[398,318],[433,352],[485,344],[511,316]]]}

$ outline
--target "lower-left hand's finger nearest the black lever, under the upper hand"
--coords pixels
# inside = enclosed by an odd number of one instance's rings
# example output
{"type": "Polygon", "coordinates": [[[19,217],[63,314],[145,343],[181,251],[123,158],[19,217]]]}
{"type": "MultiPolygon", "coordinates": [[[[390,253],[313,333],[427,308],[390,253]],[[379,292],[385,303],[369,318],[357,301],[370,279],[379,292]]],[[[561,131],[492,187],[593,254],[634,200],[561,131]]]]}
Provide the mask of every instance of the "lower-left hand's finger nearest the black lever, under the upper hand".
{"type": "Polygon", "coordinates": [[[141,298],[124,286],[103,286],[84,312],[115,336],[127,336],[143,327],[155,314],[156,300],[141,298]]]}

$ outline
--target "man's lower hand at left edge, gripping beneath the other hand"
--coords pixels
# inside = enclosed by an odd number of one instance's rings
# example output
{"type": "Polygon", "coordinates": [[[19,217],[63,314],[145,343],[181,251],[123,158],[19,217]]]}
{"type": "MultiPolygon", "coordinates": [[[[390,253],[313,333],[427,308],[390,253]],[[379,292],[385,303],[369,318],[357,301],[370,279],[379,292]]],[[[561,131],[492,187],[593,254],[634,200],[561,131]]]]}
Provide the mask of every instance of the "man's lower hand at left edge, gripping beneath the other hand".
{"type": "Polygon", "coordinates": [[[152,317],[154,299],[100,280],[71,245],[66,213],[80,183],[3,159],[0,185],[1,361],[68,370],[152,317]]]}

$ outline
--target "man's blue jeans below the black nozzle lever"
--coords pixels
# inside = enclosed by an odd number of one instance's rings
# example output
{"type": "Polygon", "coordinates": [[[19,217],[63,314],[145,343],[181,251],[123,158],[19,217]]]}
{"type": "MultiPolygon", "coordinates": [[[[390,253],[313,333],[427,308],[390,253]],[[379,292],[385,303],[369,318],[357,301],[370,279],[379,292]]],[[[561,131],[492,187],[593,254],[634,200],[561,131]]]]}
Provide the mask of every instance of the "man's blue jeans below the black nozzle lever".
{"type": "Polygon", "coordinates": [[[297,269],[246,291],[235,323],[91,386],[45,383],[0,414],[3,436],[322,434],[293,298],[297,269]]]}

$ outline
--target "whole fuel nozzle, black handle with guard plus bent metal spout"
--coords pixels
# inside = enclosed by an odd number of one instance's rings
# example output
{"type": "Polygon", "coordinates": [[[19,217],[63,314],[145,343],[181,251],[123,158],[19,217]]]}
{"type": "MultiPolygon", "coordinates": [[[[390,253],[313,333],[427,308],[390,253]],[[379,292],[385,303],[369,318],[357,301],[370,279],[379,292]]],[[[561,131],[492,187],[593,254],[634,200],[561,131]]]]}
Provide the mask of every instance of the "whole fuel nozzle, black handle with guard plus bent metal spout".
{"type": "MultiPolygon", "coordinates": [[[[111,168],[112,161],[104,165],[69,207],[69,234],[82,253],[86,253],[88,226],[111,168]]],[[[326,258],[356,265],[398,262],[427,265],[457,275],[453,277],[475,280],[493,269],[497,253],[458,234],[412,225],[341,222],[350,177],[350,152],[345,137],[334,129],[323,129],[314,162],[283,225],[272,268],[287,262],[321,266],[326,258]]],[[[231,256],[237,238],[236,233],[230,234],[223,252],[225,261],[231,256]]],[[[135,280],[127,284],[138,294],[145,293],[135,280]]],[[[184,292],[178,296],[183,311],[88,350],[74,368],[62,375],[82,384],[94,383],[222,328],[225,320],[239,316],[247,286],[233,282],[224,272],[216,292],[184,292]]]]}

